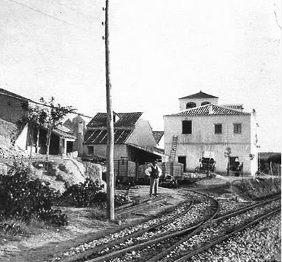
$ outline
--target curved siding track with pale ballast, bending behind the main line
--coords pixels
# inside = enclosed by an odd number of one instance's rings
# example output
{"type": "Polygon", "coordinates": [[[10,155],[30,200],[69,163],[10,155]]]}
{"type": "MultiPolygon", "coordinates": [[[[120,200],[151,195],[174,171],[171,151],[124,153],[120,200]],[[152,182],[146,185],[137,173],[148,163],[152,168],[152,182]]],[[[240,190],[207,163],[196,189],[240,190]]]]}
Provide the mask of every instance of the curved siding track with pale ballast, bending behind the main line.
{"type": "Polygon", "coordinates": [[[116,256],[122,256],[126,252],[139,250],[161,241],[168,239],[179,241],[183,235],[187,235],[206,221],[213,219],[220,208],[218,202],[208,195],[195,191],[189,191],[189,193],[189,196],[193,199],[192,203],[189,203],[181,214],[177,214],[173,218],[170,217],[166,221],[149,228],[139,230],[118,241],[111,242],[107,246],[95,247],[95,249],[88,251],[88,254],[84,254],[84,258],[63,261],[109,261],[116,256]],[[199,213],[198,216],[195,215],[196,211],[199,213]],[[182,223],[182,221],[186,222],[182,223]]]}

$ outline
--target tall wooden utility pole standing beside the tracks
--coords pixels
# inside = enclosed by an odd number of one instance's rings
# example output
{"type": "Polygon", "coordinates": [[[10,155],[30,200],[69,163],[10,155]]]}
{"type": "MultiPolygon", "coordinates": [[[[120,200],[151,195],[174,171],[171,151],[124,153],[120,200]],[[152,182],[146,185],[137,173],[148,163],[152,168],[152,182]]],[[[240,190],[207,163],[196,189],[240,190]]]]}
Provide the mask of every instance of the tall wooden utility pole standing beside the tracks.
{"type": "Polygon", "coordinates": [[[107,91],[107,219],[114,221],[114,119],[109,68],[109,0],[105,8],[105,61],[107,91]]]}

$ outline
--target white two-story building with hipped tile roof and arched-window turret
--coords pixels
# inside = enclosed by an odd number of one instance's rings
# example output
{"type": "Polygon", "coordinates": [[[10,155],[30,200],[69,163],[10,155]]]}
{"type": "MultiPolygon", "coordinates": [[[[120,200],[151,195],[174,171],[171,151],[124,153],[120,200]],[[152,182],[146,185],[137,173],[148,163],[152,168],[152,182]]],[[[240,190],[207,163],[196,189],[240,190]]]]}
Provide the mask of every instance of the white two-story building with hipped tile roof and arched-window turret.
{"type": "Polygon", "coordinates": [[[180,112],[163,120],[165,154],[183,163],[184,171],[193,172],[204,153],[215,158],[216,172],[226,174],[234,159],[243,163],[244,174],[257,171],[255,119],[242,105],[220,106],[218,97],[199,92],[180,98],[180,112]]]}

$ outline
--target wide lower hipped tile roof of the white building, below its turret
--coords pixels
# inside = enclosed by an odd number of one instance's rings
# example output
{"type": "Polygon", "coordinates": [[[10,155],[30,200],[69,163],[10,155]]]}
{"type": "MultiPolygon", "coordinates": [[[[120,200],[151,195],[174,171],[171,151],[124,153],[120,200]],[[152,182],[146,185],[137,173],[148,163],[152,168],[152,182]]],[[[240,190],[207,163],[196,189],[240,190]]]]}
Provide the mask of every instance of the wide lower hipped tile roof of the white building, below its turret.
{"type": "Polygon", "coordinates": [[[168,116],[249,116],[250,113],[228,109],[223,106],[215,104],[206,104],[205,106],[198,106],[192,109],[174,113],[168,116]]]}

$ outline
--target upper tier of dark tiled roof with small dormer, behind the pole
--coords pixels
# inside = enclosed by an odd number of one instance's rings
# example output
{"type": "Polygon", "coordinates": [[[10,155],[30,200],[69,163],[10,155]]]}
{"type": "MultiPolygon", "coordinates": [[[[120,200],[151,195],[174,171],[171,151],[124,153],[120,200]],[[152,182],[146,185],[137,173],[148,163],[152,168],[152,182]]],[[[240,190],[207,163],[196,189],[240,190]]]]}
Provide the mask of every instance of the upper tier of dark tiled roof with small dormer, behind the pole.
{"type": "MultiPolygon", "coordinates": [[[[142,115],[142,112],[131,113],[116,113],[119,118],[114,123],[115,127],[128,127],[134,126],[137,120],[142,115]]],[[[106,127],[107,126],[107,113],[97,113],[87,125],[88,127],[106,127]]]]}

